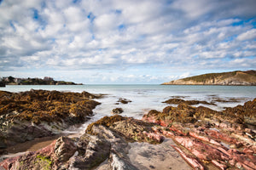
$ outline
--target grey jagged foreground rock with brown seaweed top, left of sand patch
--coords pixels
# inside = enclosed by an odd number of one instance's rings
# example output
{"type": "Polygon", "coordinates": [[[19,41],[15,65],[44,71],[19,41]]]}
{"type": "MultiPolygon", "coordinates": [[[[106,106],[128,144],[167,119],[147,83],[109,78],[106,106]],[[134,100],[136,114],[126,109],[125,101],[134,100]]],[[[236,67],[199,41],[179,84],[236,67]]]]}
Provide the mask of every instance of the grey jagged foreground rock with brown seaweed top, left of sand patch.
{"type": "Polygon", "coordinates": [[[0,163],[0,167],[5,169],[98,167],[98,169],[137,170],[128,156],[131,148],[128,141],[151,141],[159,144],[163,137],[152,135],[152,126],[152,123],[132,118],[104,117],[101,121],[92,124],[90,130],[87,129],[87,133],[79,139],[61,137],[44,149],[6,159],[0,163]]]}

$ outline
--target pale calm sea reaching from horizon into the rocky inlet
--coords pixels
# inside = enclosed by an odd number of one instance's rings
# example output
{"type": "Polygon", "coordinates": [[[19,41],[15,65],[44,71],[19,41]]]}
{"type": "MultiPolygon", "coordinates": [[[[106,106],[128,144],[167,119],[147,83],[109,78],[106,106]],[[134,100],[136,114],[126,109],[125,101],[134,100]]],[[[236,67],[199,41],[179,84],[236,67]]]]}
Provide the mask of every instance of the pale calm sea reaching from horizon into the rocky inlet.
{"type": "MultiPolygon", "coordinates": [[[[61,92],[89,92],[104,94],[102,99],[95,99],[102,103],[96,106],[89,122],[79,127],[70,127],[65,133],[84,133],[84,129],[91,122],[103,116],[112,116],[112,110],[122,108],[122,116],[141,119],[150,110],[162,111],[168,104],[167,99],[196,99],[204,100],[215,105],[203,105],[212,110],[223,111],[225,107],[243,105],[248,100],[256,98],[256,86],[197,86],[197,85],[158,85],[158,84],[129,84],[129,85],[7,85],[0,88],[9,92],[24,92],[31,89],[58,90],[61,92]],[[118,102],[119,98],[131,100],[128,104],[118,102]]],[[[177,105],[173,105],[177,106],[177,105]]],[[[199,106],[199,105],[194,105],[199,106]]]]}

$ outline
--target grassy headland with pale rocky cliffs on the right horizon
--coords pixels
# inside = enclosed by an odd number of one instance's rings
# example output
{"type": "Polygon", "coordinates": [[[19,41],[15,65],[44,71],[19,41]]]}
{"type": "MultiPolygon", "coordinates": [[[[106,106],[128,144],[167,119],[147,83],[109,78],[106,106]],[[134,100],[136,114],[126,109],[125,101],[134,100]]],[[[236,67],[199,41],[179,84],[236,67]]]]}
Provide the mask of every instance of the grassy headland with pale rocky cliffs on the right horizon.
{"type": "Polygon", "coordinates": [[[187,77],[164,82],[162,85],[231,85],[255,86],[256,71],[231,71],[222,73],[209,73],[195,77],[187,77]]]}

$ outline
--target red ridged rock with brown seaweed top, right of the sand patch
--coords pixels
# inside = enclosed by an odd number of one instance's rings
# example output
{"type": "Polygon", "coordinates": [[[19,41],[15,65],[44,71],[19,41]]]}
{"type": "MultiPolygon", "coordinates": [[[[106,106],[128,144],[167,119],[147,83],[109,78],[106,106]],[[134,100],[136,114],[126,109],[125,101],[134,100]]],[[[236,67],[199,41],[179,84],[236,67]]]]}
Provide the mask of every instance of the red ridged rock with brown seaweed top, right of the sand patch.
{"type": "Polygon", "coordinates": [[[183,103],[149,111],[143,120],[159,124],[155,133],[172,138],[173,148],[195,169],[255,169],[256,131],[247,128],[245,119],[255,121],[255,101],[223,112],[183,103]]]}

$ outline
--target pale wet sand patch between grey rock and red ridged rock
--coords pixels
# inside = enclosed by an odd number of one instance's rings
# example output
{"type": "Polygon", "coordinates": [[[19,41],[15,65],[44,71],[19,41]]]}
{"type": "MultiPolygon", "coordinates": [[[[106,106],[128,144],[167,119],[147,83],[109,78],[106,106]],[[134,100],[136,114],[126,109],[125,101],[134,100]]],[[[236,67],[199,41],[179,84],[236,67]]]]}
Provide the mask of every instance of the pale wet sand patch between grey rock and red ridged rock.
{"type": "Polygon", "coordinates": [[[161,144],[130,143],[129,158],[138,169],[180,169],[191,170],[186,161],[174,150],[172,139],[161,144]]]}

